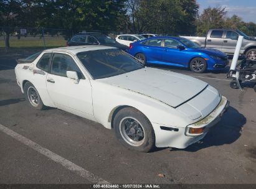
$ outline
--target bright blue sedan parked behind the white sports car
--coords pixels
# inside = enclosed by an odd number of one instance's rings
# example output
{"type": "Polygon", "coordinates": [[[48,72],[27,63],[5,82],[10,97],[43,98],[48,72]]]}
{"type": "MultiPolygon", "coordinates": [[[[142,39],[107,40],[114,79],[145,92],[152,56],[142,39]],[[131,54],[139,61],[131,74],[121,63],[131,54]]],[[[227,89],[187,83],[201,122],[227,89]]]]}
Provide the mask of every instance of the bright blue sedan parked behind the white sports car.
{"type": "Polygon", "coordinates": [[[229,64],[225,53],[201,48],[183,37],[151,37],[130,44],[128,52],[145,64],[173,65],[196,73],[221,70],[229,64]]]}

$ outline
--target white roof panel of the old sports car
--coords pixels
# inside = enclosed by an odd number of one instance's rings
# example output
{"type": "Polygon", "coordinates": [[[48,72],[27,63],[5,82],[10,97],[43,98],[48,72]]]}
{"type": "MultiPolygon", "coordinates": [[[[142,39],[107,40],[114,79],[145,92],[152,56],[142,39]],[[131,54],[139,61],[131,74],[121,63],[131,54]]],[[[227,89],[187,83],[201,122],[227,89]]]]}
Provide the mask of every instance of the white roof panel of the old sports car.
{"type": "Polygon", "coordinates": [[[110,49],[116,47],[108,47],[103,45],[80,45],[80,46],[70,46],[70,47],[59,47],[59,48],[50,48],[44,50],[44,52],[68,52],[76,55],[79,52],[85,52],[90,50],[103,50],[103,49],[110,49]]]}

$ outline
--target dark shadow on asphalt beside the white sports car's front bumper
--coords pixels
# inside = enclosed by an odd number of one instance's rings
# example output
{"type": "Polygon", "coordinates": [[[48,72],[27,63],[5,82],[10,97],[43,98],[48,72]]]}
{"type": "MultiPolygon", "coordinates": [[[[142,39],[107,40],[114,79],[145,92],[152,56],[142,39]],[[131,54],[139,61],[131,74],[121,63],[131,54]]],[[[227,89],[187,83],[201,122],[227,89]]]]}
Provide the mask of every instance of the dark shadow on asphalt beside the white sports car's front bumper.
{"type": "Polygon", "coordinates": [[[240,114],[237,109],[230,106],[227,112],[222,116],[220,122],[210,129],[204,139],[195,144],[189,145],[186,149],[173,150],[197,152],[198,150],[211,146],[232,144],[241,136],[246,122],[247,120],[245,116],[240,114]]]}

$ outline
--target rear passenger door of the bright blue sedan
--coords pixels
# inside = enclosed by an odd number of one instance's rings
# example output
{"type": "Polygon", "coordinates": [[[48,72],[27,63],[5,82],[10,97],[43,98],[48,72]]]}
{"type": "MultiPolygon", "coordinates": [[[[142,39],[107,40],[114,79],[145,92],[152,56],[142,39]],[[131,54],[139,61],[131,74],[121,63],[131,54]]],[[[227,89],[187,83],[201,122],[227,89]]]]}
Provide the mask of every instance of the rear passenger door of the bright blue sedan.
{"type": "Polygon", "coordinates": [[[148,63],[162,63],[164,47],[162,47],[162,39],[150,39],[141,43],[142,53],[146,56],[148,63]]]}

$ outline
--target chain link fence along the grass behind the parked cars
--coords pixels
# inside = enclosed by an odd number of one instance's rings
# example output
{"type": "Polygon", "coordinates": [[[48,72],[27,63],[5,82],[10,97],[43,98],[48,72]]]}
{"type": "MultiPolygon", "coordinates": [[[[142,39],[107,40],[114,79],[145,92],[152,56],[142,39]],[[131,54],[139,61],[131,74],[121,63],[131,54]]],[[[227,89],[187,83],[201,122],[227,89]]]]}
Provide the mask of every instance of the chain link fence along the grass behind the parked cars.
{"type": "MultiPolygon", "coordinates": [[[[0,48],[53,48],[64,47],[67,40],[78,32],[78,30],[67,29],[45,29],[32,27],[0,27],[0,48]]],[[[91,31],[90,31],[91,32],[91,31]]],[[[102,32],[102,31],[101,31],[102,32]]],[[[102,32],[115,39],[117,35],[127,34],[127,32],[102,32]]],[[[144,32],[148,34],[150,32],[144,32]]],[[[181,34],[159,34],[168,36],[178,36],[181,34]]],[[[183,34],[184,35],[184,34],[183,34]]]]}

